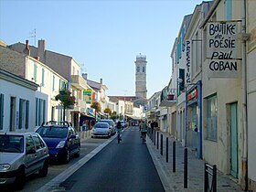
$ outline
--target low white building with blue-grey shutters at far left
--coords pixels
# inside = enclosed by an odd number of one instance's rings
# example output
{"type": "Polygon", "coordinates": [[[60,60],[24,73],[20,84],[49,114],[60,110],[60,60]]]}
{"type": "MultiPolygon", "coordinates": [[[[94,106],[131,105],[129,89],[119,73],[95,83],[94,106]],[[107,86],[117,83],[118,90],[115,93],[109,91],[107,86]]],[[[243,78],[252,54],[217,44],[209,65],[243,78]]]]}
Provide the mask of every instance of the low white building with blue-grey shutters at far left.
{"type": "Polygon", "coordinates": [[[38,85],[0,69],[0,132],[34,132],[38,85]]]}

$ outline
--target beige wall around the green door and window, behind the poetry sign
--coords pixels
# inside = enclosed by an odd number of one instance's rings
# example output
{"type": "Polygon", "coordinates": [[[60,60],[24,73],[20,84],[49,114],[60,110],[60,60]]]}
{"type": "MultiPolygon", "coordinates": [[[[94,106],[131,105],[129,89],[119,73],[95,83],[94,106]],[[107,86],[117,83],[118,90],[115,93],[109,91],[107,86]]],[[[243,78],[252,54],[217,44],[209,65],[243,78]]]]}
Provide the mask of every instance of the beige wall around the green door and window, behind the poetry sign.
{"type": "MultiPolygon", "coordinates": [[[[240,1],[233,1],[233,17],[232,19],[238,19],[240,17],[240,1]]],[[[224,1],[221,1],[216,9],[217,20],[225,20],[224,18],[224,1]]],[[[206,28],[205,28],[206,29],[206,28]]],[[[206,34],[203,37],[204,47],[203,55],[206,56],[206,34]]],[[[238,41],[240,45],[240,41],[238,41]]],[[[239,48],[240,56],[240,48],[239,48]]],[[[218,169],[224,174],[229,174],[230,169],[230,128],[229,128],[229,104],[232,102],[238,102],[238,143],[239,143],[239,164],[241,162],[240,151],[242,141],[240,140],[240,134],[242,129],[241,122],[241,64],[238,65],[239,77],[237,79],[225,79],[225,78],[208,78],[208,59],[203,58],[202,66],[202,85],[203,85],[203,157],[209,164],[217,165],[218,169]],[[218,102],[218,135],[217,141],[210,141],[207,136],[207,98],[212,94],[217,94],[218,102]]],[[[239,170],[240,171],[240,170],[239,170]]],[[[240,173],[239,173],[240,174],[240,173]]]]}

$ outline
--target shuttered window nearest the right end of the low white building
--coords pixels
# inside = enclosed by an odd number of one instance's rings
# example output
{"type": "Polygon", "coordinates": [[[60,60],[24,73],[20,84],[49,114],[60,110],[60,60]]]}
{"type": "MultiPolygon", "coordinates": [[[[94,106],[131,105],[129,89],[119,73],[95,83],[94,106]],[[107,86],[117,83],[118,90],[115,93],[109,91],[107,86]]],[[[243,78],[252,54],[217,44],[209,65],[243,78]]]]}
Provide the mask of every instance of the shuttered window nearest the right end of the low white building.
{"type": "Polygon", "coordinates": [[[28,129],[29,101],[19,99],[18,129],[28,129]]]}

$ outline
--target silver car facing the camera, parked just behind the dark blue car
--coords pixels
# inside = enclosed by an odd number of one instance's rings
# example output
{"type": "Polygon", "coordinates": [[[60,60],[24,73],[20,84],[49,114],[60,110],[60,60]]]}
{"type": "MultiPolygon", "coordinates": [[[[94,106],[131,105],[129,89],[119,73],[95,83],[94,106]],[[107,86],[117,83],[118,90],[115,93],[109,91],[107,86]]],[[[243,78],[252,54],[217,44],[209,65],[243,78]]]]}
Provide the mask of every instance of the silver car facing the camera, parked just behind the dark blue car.
{"type": "Polygon", "coordinates": [[[91,130],[91,138],[93,137],[110,137],[111,128],[109,123],[95,123],[91,130]]]}

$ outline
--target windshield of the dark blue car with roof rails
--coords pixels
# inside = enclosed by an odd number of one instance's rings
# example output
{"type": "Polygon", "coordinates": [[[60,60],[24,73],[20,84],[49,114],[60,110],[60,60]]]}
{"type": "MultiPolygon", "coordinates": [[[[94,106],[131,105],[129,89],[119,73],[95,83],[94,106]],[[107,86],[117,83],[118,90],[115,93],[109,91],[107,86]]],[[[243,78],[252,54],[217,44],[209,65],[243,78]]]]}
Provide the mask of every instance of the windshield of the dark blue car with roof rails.
{"type": "Polygon", "coordinates": [[[42,137],[53,137],[53,138],[66,138],[68,133],[68,127],[40,127],[37,129],[37,133],[42,137]]]}

